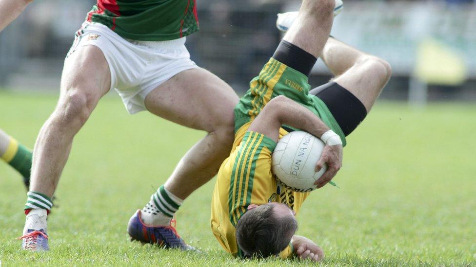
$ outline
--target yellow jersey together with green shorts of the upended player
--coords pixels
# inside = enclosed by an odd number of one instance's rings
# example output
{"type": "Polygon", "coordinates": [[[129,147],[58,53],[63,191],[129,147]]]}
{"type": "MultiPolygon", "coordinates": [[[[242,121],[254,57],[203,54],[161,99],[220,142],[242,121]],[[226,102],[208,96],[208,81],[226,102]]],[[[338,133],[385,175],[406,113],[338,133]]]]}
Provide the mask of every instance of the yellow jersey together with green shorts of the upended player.
{"type": "MultiPolygon", "coordinates": [[[[280,186],[271,173],[271,156],[276,142],[263,134],[250,132],[253,120],[269,101],[285,95],[310,109],[336,132],[345,137],[329,109],[316,96],[309,95],[306,75],[271,58],[250,89],[235,107],[235,142],[230,156],[223,161],[212,196],[211,227],[221,246],[236,256],[241,255],[236,241],[236,224],[250,204],[280,202],[298,214],[310,193],[298,193],[280,186]]],[[[279,130],[279,138],[287,134],[279,130]]],[[[291,246],[280,256],[289,257],[291,246]]]]}

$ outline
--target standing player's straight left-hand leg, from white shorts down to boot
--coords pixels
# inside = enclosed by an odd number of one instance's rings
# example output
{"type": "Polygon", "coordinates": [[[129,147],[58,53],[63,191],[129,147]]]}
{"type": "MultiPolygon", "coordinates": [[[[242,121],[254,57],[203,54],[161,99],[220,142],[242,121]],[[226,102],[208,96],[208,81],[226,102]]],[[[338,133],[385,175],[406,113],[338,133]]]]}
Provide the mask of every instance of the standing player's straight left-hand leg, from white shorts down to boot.
{"type": "Polygon", "coordinates": [[[33,151],[23,249],[48,249],[46,216],[73,138],[110,86],[109,66],[98,47],[81,47],[65,60],[57,107],[41,128],[33,151]]]}

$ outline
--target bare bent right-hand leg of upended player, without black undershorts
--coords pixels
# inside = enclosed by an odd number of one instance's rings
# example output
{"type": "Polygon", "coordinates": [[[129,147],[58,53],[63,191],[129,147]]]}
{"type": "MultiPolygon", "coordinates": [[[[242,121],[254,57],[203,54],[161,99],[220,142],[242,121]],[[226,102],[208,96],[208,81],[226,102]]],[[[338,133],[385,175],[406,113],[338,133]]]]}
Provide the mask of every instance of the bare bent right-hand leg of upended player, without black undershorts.
{"type": "Polygon", "coordinates": [[[332,37],[327,41],[321,58],[335,75],[333,81],[354,94],[367,112],[392,73],[390,65],[383,59],[360,52],[332,37]]]}

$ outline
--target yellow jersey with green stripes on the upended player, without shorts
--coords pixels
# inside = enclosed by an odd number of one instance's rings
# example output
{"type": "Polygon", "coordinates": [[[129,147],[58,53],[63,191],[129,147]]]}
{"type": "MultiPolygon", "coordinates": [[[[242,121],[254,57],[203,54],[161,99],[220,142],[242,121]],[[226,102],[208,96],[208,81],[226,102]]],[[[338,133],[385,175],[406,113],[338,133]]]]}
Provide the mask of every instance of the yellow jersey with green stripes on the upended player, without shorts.
{"type": "MultiPolygon", "coordinates": [[[[271,174],[271,155],[276,142],[265,135],[247,131],[251,123],[237,133],[230,157],[218,171],[212,196],[211,226],[221,246],[233,255],[242,256],[235,237],[236,224],[250,204],[279,202],[287,204],[296,213],[309,193],[298,193],[280,186],[271,174]]],[[[280,129],[279,137],[287,134],[280,129]]],[[[287,258],[291,246],[279,256],[287,258]]]]}

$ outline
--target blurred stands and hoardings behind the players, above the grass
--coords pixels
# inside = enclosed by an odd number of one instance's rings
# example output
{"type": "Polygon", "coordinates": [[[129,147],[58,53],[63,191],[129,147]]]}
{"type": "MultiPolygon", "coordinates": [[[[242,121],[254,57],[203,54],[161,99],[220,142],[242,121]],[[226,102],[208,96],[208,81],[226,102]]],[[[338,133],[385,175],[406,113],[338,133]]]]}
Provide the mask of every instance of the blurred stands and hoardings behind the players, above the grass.
{"type": "MultiPolygon", "coordinates": [[[[57,91],[74,33],[95,0],[37,0],[0,34],[0,88],[57,91]]],[[[393,67],[382,98],[476,101],[474,0],[345,0],[332,34],[393,67]]],[[[276,14],[299,0],[198,0],[200,31],[187,37],[192,59],[237,90],[276,48],[276,14]]],[[[330,78],[322,62],[312,86],[330,78]]]]}

